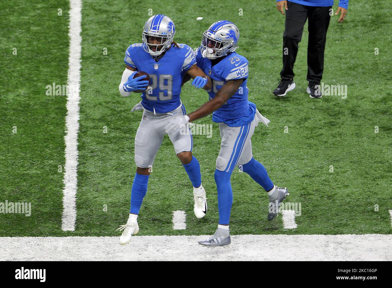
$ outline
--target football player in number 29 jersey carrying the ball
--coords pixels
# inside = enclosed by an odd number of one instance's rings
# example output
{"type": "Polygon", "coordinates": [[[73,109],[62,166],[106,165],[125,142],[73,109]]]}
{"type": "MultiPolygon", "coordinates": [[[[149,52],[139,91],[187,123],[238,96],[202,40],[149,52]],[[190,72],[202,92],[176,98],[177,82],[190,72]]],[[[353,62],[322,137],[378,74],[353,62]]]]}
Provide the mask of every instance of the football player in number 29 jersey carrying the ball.
{"type": "MultiPolygon", "coordinates": [[[[125,52],[126,69],[119,85],[120,94],[129,96],[132,91],[144,90],[148,85],[149,89],[142,93],[139,105],[144,111],[135,137],[137,168],[132,183],[129,219],[127,224],[118,228],[123,230],[120,237],[121,245],[130,243],[132,235],[139,231],[137,217],[147,192],[152,163],[165,134],[169,134],[176,155],[192,182],[196,217],[202,218],[207,212],[200,165],[192,156],[192,134],[183,133],[183,130],[181,132],[180,126],[173,127],[166,133],[165,125],[170,118],[186,114],[180,100],[181,84],[185,74],[194,79],[193,86],[205,90],[211,89],[211,79],[197,67],[193,50],[188,45],[173,41],[175,33],[176,28],[171,18],[162,14],[154,15],[145,22],[142,43],[130,45],[125,52]],[[137,71],[147,72],[151,83],[143,80],[146,78],[145,75],[134,78],[137,71]]],[[[138,110],[137,106],[132,110],[138,110]]]]}

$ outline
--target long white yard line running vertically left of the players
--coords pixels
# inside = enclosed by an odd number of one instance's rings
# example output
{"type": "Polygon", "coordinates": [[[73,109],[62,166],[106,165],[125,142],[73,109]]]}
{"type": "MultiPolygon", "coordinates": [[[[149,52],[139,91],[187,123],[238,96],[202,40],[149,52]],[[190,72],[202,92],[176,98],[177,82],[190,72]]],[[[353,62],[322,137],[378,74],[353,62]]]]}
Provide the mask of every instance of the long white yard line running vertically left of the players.
{"type": "Polygon", "coordinates": [[[78,168],[79,87],[82,37],[82,1],[70,0],[69,9],[69,69],[67,116],[65,117],[65,165],[63,189],[63,215],[61,228],[74,231],[76,222],[76,190],[78,168]]]}

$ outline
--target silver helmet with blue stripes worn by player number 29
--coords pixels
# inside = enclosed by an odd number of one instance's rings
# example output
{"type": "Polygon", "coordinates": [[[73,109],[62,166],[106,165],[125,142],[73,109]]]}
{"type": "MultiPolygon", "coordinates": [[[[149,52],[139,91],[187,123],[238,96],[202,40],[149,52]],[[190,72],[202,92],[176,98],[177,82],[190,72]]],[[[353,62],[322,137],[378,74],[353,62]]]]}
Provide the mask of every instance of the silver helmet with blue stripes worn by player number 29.
{"type": "Polygon", "coordinates": [[[167,49],[169,49],[173,42],[176,28],[173,21],[163,14],[151,16],[143,27],[143,49],[151,54],[151,56],[159,56],[167,49]],[[160,38],[160,44],[150,44],[148,42],[149,36],[160,38]],[[158,50],[158,46],[162,48],[158,50]]]}

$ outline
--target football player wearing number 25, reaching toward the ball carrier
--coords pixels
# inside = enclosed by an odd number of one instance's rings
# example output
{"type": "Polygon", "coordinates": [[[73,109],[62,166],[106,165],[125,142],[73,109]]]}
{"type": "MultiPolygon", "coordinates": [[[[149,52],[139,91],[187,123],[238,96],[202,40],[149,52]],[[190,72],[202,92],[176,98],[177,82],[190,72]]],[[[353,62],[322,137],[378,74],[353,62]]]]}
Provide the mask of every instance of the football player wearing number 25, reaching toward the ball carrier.
{"type": "Polygon", "coordinates": [[[219,123],[221,147],[214,174],[218,189],[219,225],[214,235],[199,242],[205,246],[224,246],[231,242],[229,218],[233,195],[230,177],[236,166],[267,192],[270,201],[268,220],[278,215],[279,204],[289,195],[287,188],[276,187],[272,183],[264,166],[252,155],[250,138],[254,128],[259,122],[267,125],[269,120],[260,114],[254,103],[248,101],[248,60],[235,52],[239,38],[237,26],[226,20],[215,22],[203,33],[196,62],[211,77],[210,101],[191,114],[172,118],[167,127],[168,130],[175,129],[179,124],[184,125],[212,112],[212,121],[219,123]]]}

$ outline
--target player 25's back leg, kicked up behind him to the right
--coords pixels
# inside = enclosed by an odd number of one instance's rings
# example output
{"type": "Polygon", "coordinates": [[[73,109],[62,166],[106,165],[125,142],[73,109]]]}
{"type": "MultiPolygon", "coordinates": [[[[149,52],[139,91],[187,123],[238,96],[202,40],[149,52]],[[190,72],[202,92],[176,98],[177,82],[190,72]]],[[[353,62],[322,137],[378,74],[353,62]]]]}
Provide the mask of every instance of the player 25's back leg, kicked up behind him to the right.
{"type": "MultiPolygon", "coordinates": [[[[256,120],[253,120],[251,125],[254,130],[256,120]]],[[[247,138],[241,156],[238,159],[238,168],[252,177],[267,192],[270,201],[267,219],[274,219],[278,215],[280,203],[289,193],[287,188],[276,187],[269,178],[263,164],[253,158],[251,137],[247,138]]]]}

